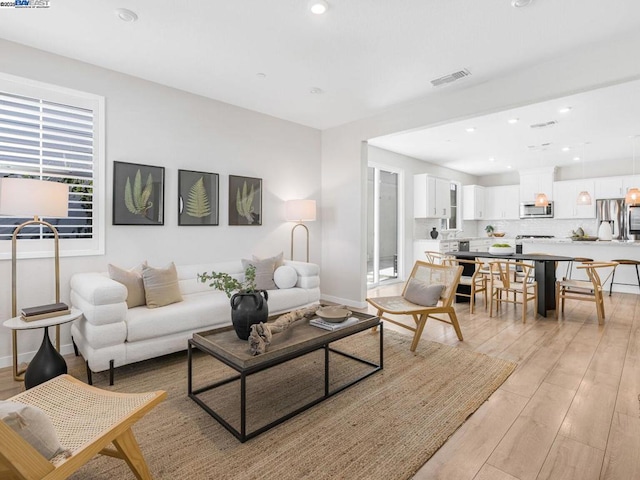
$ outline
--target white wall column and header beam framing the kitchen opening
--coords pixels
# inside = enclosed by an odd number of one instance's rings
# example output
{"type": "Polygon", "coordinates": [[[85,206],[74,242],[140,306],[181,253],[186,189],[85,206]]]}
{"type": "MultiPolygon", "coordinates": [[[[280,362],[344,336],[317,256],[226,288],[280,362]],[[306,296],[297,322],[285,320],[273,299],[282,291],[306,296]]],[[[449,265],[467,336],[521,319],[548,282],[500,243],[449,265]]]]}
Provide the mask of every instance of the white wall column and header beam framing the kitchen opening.
{"type": "Polygon", "coordinates": [[[446,91],[438,97],[381,115],[325,130],[322,134],[323,295],[362,305],[366,293],[367,139],[413,128],[463,120],[640,77],[631,62],[640,50],[640,33],[590,45],[570,56],[534,68],[505,72],[498,80],[446,91]]]}

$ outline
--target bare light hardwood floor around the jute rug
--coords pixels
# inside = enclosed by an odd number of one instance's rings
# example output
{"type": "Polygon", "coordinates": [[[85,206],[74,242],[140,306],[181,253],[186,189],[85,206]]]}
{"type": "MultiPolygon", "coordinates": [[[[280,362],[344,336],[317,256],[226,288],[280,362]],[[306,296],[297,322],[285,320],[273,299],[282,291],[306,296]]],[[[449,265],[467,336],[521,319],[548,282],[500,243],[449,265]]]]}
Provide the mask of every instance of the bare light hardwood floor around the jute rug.
{"type": "MultiPolygon", "coordinates": [[[[400,289],[396,284],[370,296],[400,289]]],[[[490,318],[479,299],[474,315],[468,304],[456,306],[463,342],[452,327],[428,322],[423,339],[518,367],[414,479],[639,479],[639,302],[638,295],[607,297],[600,327],[592,303],[568,301],[560,321],[534,319],[530,308],[522,324],[520,306],[490,318]]],[[[386,327],[410,334],[388,322],[386,327]]],[[[66,359],[82,364],[80,357],[66,359]]],[[[0,398],[21,389],[10,368],[0,370],[0,398]]]]}

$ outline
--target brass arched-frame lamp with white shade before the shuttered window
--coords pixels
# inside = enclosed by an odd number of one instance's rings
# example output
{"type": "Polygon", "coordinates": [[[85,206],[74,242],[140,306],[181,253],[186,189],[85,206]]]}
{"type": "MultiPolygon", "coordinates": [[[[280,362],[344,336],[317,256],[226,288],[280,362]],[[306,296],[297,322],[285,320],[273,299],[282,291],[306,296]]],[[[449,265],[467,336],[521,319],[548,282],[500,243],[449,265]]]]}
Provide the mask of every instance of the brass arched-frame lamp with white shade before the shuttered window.
{"type": "MultiPolygon", "coordinates": [[[[60,302],[60,249],[58,244],[58,230],[48,222],[38,217],[67,217],[69,206],[69,187],[64,183],[34,180],[30,178],[0,178],[0,215],[12,217],[33,217],[18,225],[11,237],[11,316],[18,316],[17,304],[17,269],[16,250],[18,234],[31,225],[44,225],[53,232],[55,256],[55,285],[56,303],[60,302]]],[[[17,332],[13,333],[13,376],[15,380],[22,380],[24,372],[18,371],[17,363],[17,332]]],[[[60,349],[60,327],[56,328],[56,347],[60,349]]]]}

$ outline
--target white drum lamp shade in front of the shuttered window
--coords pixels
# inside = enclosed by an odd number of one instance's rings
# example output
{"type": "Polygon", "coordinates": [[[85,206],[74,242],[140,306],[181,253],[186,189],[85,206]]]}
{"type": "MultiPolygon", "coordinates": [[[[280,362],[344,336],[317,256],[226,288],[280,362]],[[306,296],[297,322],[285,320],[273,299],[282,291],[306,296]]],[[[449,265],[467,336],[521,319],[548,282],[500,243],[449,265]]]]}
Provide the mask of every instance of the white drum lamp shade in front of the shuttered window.
{"type": "Polygon", "coordinates": [[[0,178],[0,215],[66,217],[69,187],[31,178],[0,178]]]}

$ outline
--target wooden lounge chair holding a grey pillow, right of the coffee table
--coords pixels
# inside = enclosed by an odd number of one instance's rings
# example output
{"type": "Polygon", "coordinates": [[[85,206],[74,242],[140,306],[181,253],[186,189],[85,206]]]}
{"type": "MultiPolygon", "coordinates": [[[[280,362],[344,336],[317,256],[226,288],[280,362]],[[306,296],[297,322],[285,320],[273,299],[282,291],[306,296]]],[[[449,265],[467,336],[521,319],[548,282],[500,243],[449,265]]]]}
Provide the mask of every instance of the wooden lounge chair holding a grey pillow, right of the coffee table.
{"type": "Polygon", "coordinates": [[[404,285],[402,295],[394,297],[367,298],[367,302],[376,308],[378,312],[377,315],[381,319],[414,332],[413,341],[411,342],[410,347],[412,352],[415,352],[418,342],[420,341],[420,337],[422,336],[424,326],[429,318],[453,325],[458,339],[462,341],[462,331],[460,330],[458,317],[456,316],[456,311],[452,306],[461,275],[462,267],[460,266],[434,265],[432,263],[418,260],[413,266],[411,275],[404,285]],[[444,285],[444,289],[440,294],[438,303],[434,306],[424,306],[411,303],[406,300],[404,298],[404,294],[412,279],[419,280],[423,284],[429,286],[436,284],[444,285]],[[397,319],[389,318],[385,316],[385,314],[410,315],[415,326],[407,325],[397,319]]]}

